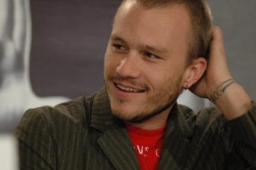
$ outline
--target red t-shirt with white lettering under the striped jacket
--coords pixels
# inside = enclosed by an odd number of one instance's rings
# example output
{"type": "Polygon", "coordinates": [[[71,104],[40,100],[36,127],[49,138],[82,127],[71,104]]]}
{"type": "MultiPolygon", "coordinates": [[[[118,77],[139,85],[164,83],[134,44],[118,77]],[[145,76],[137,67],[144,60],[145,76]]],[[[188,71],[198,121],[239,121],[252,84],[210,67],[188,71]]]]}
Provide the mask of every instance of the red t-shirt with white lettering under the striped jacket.
{"type": "Polygon", "coordinates": [[[157,169],[166,124],[157,130],[144,130],[129,123],[125,125],[134,145],[140,169],[157,169]]]}

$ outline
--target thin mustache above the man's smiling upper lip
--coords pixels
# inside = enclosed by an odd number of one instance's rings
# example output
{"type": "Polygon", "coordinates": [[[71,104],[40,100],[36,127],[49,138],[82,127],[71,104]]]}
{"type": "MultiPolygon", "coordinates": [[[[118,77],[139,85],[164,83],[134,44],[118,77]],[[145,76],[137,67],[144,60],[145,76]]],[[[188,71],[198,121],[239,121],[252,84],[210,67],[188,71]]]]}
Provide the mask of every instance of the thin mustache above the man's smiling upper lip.
{"type": "Polygon", "coordinates": [[[149,89],[148,86],[142,82],[138,82],[135,79],[131,79],[131,78],[120,77],[119,75],[115,75],[115,76],[109,75],[108,79],[113,82],[125,82],[126,84],[131,84],[136,88],[141,88],[146,90],[149,89]]]}

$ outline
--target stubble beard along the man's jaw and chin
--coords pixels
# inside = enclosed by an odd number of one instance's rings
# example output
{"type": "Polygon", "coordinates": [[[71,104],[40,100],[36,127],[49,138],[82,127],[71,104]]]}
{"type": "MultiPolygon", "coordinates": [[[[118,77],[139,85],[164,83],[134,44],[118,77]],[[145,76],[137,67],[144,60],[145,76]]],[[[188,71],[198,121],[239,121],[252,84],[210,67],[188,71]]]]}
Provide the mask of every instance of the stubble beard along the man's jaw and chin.
{"type": "MultiPolygon", "coordinates": [[[[109,80],[113,80],[113,79],[116,80],[118,78],[109,77],[109,80]]],[[[149,100],[150,102],[148,102],[149,109],[144,108],[144,110],[138,111],[137,113],[129,114],[127,112],[125,113],[125,111],[123,110],[116,110],[115,108],[111,107],[112,115],[115,116],[116,118],[119,118],[120,120],[125,120],[131,123],[145,122],[156,115],[160,115],[161,113],[163,113],[163,111],[173,106],[178,96],[180,96],[180,94],[182,93],[182,89],[180,88],[181,81],[182,81],[182,77],[178,77],[178,79],[170,82],[166,89],[163,89],[161,92],[154,94],[154,96],[151,96],[151,99],[149,100]],[[151,105],[156,105],[156,106],[151,108],[151,105]]],[[[136,82],[134,81],[131,81],[131,83],[136,84],[136,82]]],[[[106,87],[107,87],[107,84],[106,84],[106,87]]],[[[108,98],[110,98],[109,94],[108,94],[108,98]]],[[[120,99],[119,102],[124,103],[125,100],[120,99]]],[[[111,99],[110,99],[110,105],[111,105],[111,99]]]]}

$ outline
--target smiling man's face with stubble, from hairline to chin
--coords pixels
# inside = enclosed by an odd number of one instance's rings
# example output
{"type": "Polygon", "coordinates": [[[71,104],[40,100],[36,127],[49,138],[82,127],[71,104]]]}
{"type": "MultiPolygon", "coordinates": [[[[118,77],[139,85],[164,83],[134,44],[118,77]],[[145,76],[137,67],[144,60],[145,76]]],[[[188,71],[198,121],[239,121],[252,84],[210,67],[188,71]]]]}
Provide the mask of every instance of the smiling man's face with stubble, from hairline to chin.
{"type": "Polygon", "coordinates": [[[105,84],[115,116],[142,122],[172,105],[182,91],[189,31],[183,6],[122,5],[105,54],[105,84]]]}

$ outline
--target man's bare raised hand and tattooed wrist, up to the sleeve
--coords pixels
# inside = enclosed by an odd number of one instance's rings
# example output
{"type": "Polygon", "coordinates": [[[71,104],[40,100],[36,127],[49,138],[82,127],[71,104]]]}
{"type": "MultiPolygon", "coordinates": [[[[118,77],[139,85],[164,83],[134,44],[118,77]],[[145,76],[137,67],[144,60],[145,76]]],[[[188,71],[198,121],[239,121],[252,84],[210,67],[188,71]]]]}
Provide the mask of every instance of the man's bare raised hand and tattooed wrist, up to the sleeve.
{"type": "MultiPolygon", "coordinates": [[[[212,40],[206,72],[190,88],[190,91],[202,98],[211,99],[212,94],[219,91],[218,87],[231,78],[226,62],[222,31],[219,27],[215,26],[212,28],[212,40]]],[[[252,99],[243,87],[233,83],[215,99],[214,104],[227,120],[232,120],[247,113],[252,108],[252,99]]]]}

